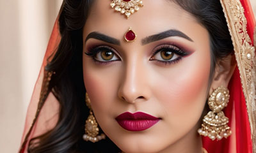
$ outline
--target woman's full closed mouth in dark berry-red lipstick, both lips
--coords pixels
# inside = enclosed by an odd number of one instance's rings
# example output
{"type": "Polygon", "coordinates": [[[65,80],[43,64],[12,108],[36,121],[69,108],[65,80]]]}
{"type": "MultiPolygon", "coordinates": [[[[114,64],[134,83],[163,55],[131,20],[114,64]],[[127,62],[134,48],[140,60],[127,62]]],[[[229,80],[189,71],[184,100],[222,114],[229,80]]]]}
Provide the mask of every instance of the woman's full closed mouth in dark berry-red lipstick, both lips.
{"type": "Polygon", "coordinates": [[[159,120],[159,118],[143,112],[125,112],[116,117],[118,124],[128,131],[143,131],[154,126],[159,120]]]}

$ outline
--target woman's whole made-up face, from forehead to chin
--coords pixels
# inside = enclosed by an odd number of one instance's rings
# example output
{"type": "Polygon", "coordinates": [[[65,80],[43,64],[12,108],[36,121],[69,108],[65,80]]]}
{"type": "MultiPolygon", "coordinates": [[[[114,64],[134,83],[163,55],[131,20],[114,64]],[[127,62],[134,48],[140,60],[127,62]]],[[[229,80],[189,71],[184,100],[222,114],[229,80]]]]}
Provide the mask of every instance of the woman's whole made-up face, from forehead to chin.
{"type": "Polygon", "coordinates": [[[124,152],[182,150],[198,137],[207,99],[209,34],[170,1],[144,1],[129,19],[110,3],[93,4],[83,31],[84,85],[97,122],[124,152]],[[124,39],[129,27],[133,42],[124,39]]]}

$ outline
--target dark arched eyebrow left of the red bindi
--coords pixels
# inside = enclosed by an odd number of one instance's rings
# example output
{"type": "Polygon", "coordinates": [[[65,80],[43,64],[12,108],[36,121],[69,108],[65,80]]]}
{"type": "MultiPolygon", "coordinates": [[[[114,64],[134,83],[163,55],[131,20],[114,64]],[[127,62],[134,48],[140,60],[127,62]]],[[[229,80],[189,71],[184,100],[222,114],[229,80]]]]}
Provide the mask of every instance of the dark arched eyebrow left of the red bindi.
{"type": "Polygon", "coordinates": [[[117,40],[116,38],[113,38],[111,36],[107,36],[105,34],[101,34],[101,33],[95,32],[95,31],[88,34],[84,43],[86,43],[86,41],[89,40],[90,38],[105,41],[106,43],[112,43],[113,45],[120,45],[120,40],[117,40]]]}

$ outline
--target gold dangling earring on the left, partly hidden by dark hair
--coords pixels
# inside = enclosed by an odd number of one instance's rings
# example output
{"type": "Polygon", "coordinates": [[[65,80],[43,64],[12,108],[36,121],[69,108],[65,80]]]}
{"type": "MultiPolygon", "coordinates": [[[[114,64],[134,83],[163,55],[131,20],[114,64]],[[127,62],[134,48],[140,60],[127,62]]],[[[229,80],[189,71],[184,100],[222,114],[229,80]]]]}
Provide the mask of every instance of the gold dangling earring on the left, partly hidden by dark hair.
{"type": "Polygon", "coordinates": [[[88,142],[99,142],[102,139],[106,138],[106,135],[102,133],[99,135],[99,128],[98,123],[93,116],[91,101],[88,97],[88,94],[85,94],[85,101],[88,108],[90,108],[90,115],[88,116],[86,123],[85,123],[85,134],[83,135],[83,139],[88,142]]]}

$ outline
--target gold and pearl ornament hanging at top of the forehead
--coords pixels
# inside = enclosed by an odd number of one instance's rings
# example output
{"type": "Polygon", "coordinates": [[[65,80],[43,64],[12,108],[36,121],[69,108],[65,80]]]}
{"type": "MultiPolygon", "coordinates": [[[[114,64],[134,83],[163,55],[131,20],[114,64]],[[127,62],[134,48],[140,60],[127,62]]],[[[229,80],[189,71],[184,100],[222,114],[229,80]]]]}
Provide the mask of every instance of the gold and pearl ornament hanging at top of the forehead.
{"type": "Polygon", "coordinates": [[[110,6],[115,7],[115,11],[120,11],[128,19],[131,14],[143,7],[143,2],[141,0],[113,0],[110,6]]]}

